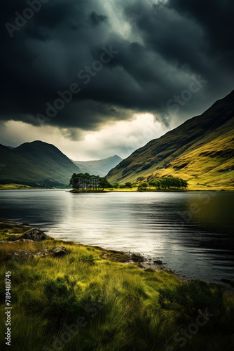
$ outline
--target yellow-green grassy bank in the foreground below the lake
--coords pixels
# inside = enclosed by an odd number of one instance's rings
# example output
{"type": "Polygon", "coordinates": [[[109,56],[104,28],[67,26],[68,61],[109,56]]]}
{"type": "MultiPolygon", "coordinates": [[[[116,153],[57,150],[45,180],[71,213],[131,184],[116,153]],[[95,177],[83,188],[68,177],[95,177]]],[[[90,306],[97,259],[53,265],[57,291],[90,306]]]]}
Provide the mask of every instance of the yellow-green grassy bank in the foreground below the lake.
{"type": "MultiPolygon", "coordinates": [[[[28,229],[0,228],[1,240],[28,229]]],[[[1,350],[233,350],[233,295],[128,259],[125,253],[51,238],[1,243],[1,282],[11,271],[13,307],[8,347],[1,284],[1,350]],[[57,245],[67,249],[66,256],[6,260],[18,249],[36,253],[57,245]]]]}

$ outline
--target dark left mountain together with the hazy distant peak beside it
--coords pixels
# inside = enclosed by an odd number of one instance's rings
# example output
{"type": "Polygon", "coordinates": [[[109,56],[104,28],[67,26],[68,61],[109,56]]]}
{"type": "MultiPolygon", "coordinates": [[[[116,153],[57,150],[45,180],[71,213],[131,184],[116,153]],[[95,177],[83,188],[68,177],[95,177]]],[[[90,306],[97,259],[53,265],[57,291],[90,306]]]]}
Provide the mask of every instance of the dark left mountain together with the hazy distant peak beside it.
{"type": "Polygon", "coordinates": [[[64,187],[73,173],[106,176],[122,159],[117,155],[91,161],[72,161],[55,145],[34,140],[18,147],[0,144],[0,183],[64,187]],[[85,166],[88,164],[88,166],[85,166]]]}

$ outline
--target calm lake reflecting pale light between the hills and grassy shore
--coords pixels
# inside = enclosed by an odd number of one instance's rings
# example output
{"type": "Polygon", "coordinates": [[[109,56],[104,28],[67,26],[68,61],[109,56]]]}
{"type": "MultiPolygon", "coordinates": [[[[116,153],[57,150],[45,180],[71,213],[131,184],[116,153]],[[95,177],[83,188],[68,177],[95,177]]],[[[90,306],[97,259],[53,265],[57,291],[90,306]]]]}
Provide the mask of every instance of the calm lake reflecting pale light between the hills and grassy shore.
{"type": "Polygon", "coordinates": [[[142,253],[181,277],[234,277],[233,192],[1,190],[1,218],[57,239],[142,253]]]}

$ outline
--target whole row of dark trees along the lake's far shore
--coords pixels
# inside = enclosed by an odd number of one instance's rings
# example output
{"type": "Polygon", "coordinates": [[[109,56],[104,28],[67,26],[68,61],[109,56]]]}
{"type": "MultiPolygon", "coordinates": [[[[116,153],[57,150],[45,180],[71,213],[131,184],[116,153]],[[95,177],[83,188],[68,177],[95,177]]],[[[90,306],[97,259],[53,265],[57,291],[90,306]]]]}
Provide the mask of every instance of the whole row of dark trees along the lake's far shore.
{"type": "Polygon", "coordinates": [[[186,189],[188,187],[188,183],[186,180],[181,178],[175,177],[163,177],[163,178],[156,178],[151,180],[149,183],[130,183],[127,182],[125,184],[118,184],[115,183],[111,185],[109,181],[100,176],[90,175],[89,173],[74,173],[71,176],[71,180],[69,183],[69,187],[73,187],[76,190],[104,190],[106,189],[125,189],[125,188],[132,188],[138,187],[138,190],[146,190],[149,187],[155,187],[158,190],[166,190],[170,188],[174,189],[186,189]]]}

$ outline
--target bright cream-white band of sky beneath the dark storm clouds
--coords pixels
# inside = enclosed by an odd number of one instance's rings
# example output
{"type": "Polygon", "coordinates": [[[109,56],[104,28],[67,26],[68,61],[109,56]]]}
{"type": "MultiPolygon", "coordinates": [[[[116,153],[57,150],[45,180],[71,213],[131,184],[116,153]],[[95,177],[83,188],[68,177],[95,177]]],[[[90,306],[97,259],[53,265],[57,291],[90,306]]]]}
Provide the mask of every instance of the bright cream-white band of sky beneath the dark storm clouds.
{"type": "Polygon", "coordinates": [[[7,121],[2,124],[4,138],[14,139],[12,147],[21,143],[43,140],[58,147],[71,159],[99,159],[118,154],[128,157],[138,147],[167,132],[167,128],[155,121],[153,114],[134,114],[130,121],[117,121],[107,124],[100,131],[85,132],[79,128],[58,128],[55,126],[32,126],[21,121],[7,121]],[[72,133],[72,140],[70,138],[72,133]],[[76,140],[74,140],[76,139],[76,140]]]}

